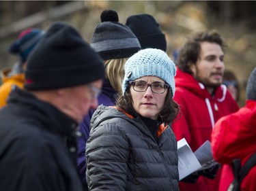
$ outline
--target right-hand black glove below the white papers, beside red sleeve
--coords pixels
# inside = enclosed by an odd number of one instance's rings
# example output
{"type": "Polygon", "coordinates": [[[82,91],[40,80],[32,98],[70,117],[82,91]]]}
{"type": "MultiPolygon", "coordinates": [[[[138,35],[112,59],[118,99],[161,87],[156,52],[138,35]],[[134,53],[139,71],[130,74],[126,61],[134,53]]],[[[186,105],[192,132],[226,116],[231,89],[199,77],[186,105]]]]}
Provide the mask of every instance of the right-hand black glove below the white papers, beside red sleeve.
{"type": "Polygon", "coordinates": [[[221,164],[215,161],[210,161],[204,164],[203,167],[196,172],[198,173],[198,175],[208,177],[209,179],[214,179],[216,177],[218,169],[220,168],[221,164]]]}

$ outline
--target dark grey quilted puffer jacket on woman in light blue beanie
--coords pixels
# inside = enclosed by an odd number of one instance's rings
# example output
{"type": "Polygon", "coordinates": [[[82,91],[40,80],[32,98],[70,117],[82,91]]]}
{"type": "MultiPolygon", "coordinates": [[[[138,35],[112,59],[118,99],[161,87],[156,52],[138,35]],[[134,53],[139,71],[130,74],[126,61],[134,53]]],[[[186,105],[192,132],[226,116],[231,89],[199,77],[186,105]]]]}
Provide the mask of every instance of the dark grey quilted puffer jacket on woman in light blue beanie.
{"type": "Polygon", "coordinates": [[[156,141],[141,118],[100,105],[86,158],[89,190],[179,190],[177,141],[169,126],[156,141]]]}

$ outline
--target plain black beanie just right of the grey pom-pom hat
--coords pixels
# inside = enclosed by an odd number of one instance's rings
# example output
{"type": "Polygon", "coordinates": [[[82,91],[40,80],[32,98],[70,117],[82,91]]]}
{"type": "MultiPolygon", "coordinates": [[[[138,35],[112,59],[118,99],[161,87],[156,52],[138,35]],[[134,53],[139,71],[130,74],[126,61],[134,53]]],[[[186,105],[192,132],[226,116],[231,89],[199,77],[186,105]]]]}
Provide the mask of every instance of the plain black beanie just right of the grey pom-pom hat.
{"type": "Polygon", "coordinates": [[[150,14],[130,16],[126,20],[126,26],[137,36],[141,48],[158,48],[166,52],[165,34],[162,33],[158,22],[150,14]]]}

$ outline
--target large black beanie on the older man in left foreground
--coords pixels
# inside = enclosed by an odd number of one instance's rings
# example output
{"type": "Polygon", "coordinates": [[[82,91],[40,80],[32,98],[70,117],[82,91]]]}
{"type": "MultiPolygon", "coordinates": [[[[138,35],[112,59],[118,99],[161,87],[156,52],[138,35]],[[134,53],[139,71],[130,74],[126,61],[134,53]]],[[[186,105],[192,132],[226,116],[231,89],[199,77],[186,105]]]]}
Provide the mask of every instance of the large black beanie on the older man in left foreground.
{"type": "Polygon", "coordinates": [[[64,22],[55,22],[29,56],[25,88],[65,88],[102,78],[104,64],[100,56],[76,29],[64,22]]]}

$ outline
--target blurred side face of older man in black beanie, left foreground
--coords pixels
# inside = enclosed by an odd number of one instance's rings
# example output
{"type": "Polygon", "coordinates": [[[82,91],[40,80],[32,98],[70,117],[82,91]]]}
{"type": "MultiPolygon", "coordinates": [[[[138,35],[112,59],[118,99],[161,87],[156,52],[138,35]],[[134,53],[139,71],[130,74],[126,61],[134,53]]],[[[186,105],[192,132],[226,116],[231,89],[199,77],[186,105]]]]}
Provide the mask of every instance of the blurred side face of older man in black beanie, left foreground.
{"type": "Polygon", "coordinates": [[[81,122],[89,109],[98,107],[98,94],[102,87],[102,80],[65,88],[62,110],[77,122],[81,122]]]}

